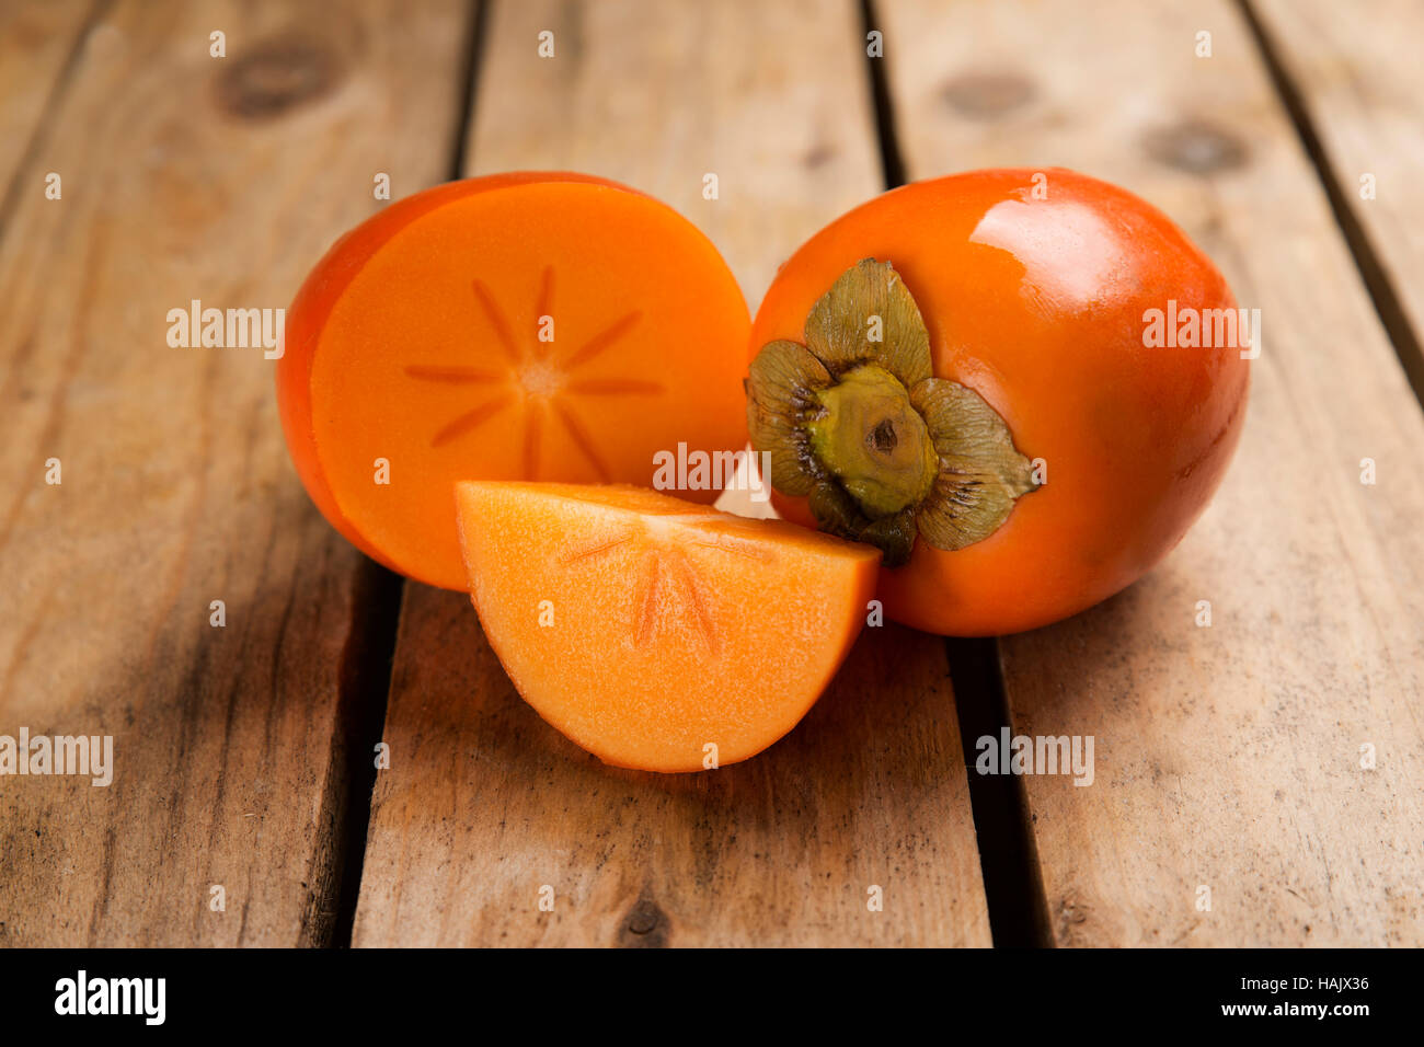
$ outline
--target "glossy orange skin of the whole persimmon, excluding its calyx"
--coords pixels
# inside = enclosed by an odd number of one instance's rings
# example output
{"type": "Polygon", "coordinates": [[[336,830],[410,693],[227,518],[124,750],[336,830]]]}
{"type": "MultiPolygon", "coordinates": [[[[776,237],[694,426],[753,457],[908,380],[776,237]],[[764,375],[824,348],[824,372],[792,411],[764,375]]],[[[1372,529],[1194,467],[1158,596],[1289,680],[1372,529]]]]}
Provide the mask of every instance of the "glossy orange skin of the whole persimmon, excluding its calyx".
{"type": "MultiPolygon", "coordinates": [[[[1235,309],[1216,266],[1162,212],[1064,170],[916,182],[822,229],[782,266],[750,352],[802,342],[815,302],[863,258],[894,265],[930,332],[933,372],[974,389],[1047,483],[988,538],[923,537],[880,573],[886,614],[947,635],[1067,618],[1121,591],[1182,538],[1246,415],[1242,346],[1148,348],[1146,311],[1235,309]],[[1035,175],[1047,198],[1035,199],[1035,175]]],[[[815,526],[805,499],[773,493],[815,526]]]]}

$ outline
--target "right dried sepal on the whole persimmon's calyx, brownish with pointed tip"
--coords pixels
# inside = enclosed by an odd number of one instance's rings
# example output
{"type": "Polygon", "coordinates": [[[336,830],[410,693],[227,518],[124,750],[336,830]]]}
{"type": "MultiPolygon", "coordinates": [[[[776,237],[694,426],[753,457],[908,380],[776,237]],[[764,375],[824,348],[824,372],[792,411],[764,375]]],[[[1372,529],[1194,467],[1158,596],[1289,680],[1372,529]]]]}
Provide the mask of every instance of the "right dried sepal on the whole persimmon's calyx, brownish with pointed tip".
{"type": "Polygon", "coordinates": [[[1037,486],[1032,462],[1014,447],[1004,419],[973,389],[931,377],[910,390],[940,456],[930,494],[916,510],[920,534],[936,548],[983,541],[1037,486]]]}

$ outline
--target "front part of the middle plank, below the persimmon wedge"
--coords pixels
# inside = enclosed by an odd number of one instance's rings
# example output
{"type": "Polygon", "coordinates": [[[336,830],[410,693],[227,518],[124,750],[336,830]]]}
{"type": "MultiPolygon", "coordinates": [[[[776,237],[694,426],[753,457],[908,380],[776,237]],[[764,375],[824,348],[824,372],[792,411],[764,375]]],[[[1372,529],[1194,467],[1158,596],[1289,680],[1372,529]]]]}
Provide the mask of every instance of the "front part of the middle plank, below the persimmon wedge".
{"type": "Polygon", "coordinates": [[[410,587],[355,944],[985,944],[943,645],[862,637],[775,746],[601,764],[514,692],[467,597],[410,587]],[[540,909],[553,889],[554,909],[540,909]],[[880,886],[884,910],[867,910],[880,886]]]}

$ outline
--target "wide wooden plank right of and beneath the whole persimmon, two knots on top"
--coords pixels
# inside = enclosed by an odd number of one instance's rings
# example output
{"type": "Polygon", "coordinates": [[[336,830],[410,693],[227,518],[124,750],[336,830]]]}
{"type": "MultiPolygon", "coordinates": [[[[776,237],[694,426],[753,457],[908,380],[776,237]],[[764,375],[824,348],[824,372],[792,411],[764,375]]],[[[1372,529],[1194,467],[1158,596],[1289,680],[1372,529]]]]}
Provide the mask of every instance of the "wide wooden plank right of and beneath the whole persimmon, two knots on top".
{"type": "Polygon", "coordinates": [[[1424,420],[1239,11],[883,16],[911,177],[1062,164],[1121,182],[1263,316],[1212,509],[1125,594],[1001,645],[1015,731],[1096,739],[1092,786],[1025,779],[1058,943],[1418,944],[1424,420]]]}

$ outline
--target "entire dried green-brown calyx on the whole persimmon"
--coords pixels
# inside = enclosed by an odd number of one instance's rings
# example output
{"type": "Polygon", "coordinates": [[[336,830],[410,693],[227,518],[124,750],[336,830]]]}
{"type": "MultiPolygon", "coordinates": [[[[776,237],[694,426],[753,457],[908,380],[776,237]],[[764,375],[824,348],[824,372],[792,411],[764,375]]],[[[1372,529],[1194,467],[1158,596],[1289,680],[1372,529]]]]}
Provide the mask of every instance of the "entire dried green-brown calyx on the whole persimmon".
{"type": "Polygon", "coordinates": [[[944,550],[987,538],[1037,486],[1004,419],[931,375],[924,319],[889,262],[847,269],[805,336],[758,353],[746,417],[772,486],[807,497],[822,530],[897,567],[916,536],[944,550]]]}

